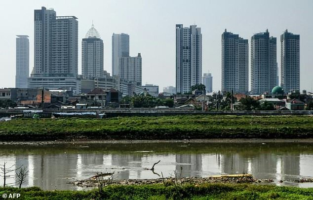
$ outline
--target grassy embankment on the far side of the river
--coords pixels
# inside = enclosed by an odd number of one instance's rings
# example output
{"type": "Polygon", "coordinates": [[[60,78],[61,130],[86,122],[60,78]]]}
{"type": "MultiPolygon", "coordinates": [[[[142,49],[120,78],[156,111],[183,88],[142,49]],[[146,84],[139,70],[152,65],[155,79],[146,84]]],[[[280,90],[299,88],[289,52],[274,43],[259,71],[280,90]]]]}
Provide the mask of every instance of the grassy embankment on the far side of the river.
{"type": "Polygon", "coordinates": [[[0,141],[72,138],[313,138],[313,117],[184,115],[108,119],[16,119],[0,123],[0,141]]]}

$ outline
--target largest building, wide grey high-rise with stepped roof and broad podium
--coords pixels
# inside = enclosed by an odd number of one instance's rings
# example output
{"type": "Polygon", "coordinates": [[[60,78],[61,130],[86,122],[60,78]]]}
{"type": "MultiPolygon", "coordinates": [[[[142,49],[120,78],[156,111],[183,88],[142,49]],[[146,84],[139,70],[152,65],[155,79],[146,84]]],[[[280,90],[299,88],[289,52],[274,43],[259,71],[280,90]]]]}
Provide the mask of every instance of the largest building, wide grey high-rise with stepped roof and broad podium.
{"type": "Polygon", "coordinates": [[[31,88],[68,89],[80,93],[78,18],[56,16],[53,9],[35,10],[34,68],[31,88]]]}

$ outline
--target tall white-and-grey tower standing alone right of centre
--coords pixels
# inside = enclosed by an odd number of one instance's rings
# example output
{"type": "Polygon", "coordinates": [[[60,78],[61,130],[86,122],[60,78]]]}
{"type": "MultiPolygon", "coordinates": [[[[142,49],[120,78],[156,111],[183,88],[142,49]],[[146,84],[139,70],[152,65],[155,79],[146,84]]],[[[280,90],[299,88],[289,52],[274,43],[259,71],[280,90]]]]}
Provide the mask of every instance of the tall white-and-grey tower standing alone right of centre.
{"type": "Polygon", "coordinates": [[[190,92],[202,76],[202,34],[196,25],[176,25],[176,91],[190,92]]]}

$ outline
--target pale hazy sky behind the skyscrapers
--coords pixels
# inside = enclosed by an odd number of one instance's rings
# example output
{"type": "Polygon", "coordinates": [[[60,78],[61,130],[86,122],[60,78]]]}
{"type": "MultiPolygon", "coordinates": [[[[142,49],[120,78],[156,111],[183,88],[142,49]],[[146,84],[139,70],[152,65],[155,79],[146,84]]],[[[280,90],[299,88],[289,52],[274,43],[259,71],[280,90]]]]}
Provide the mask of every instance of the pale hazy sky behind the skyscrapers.
{"type": "Polygon", "coordinates": [[[269,29],[277,37],[279,75],[280,34],[288,29],[300,34],[300,87],[312,91],[313,0],[0,0],[0,88],[15,87],[15,35],[30,36],[30,71],[34,67],[34,9],[41,6],[78,17],[79,73],[81,39],[92,20],[104,40],[104,69],[111,73],[112,34],[128,33],[130,56],[142,55],[143,84],[157,84],[160,92],[175,86],[176,24],[201,28],[202,73],[212,73],[213,90],[221,88],[225,29],[249,39],[249,51],[253,33],[269,29]]]}

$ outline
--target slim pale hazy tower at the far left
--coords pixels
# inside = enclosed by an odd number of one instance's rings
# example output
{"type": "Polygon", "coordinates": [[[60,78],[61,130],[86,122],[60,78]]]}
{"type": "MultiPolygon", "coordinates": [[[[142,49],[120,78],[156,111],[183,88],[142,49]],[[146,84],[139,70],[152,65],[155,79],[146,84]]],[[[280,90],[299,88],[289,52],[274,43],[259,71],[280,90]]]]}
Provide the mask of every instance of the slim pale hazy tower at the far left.
{"type": "Polygon", "coordinates": [[[29,77],[29,40],[28,35],[16,35],[16,75],[15,87],[27,88],[29,77]]]}

